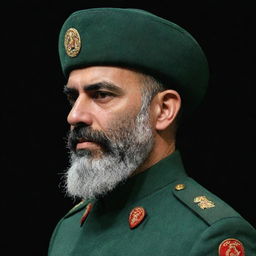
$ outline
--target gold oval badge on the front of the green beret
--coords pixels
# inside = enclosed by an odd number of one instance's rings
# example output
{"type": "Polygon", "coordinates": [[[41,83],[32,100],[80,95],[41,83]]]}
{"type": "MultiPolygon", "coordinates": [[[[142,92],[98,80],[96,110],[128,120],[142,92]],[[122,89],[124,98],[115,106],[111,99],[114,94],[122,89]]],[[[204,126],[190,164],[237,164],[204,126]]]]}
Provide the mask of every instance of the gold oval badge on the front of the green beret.
{"type": "Polygon", "coordinates": [[[69,28],[64,37],[64,46],[69,57],[76,57],[81,49],[81,39],[75,28],[69,28]]]}

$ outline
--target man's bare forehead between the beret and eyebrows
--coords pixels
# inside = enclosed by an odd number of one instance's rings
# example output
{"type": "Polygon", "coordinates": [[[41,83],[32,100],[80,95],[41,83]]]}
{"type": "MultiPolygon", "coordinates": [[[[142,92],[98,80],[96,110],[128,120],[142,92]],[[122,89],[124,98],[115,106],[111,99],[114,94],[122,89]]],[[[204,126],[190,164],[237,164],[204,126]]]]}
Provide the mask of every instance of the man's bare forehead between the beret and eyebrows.
{"type": "Polygon", "coordinates": [[[68,78],[68,87],[77,88],[100,82],[110,82],[127,91],[140,91],[144,75],[136,71],[112,66],[92,66],[73,70],[68,78]]]}

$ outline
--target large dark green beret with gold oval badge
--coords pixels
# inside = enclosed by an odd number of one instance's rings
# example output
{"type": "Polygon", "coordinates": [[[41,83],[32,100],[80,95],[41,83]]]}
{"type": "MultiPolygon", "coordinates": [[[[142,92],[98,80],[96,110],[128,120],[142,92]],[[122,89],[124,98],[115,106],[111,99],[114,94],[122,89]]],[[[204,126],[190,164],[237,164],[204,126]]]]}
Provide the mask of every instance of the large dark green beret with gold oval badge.
{"type": "Polygon", "coordinates": [[[149,74],[182,98],[189,115],[202,101],[208,64],[196,40],[180,26],[139,9],[91,8],[72,13],[59,36],[65,77],[88,66],[119,66],[149,74]]]}

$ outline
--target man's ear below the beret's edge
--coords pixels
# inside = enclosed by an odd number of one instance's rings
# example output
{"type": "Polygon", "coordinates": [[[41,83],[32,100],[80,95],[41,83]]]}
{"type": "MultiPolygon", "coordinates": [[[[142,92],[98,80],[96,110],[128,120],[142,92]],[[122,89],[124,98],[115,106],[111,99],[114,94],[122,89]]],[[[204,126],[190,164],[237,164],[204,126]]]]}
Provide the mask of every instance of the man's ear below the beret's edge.
{"type": "Polygon", "coordinates": [[[155,128],[156,130],[165,130],[177,116],[181,106],[181,98],[179,93],[174,90],[160,92],[157,97],[155,128]]]}

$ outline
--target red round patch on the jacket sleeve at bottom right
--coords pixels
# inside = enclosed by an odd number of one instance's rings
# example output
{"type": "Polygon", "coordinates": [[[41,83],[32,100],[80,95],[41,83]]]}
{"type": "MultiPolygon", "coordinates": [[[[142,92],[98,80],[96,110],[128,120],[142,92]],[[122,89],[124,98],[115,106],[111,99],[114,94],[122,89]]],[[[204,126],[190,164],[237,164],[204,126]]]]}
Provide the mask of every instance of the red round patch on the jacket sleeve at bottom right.
{"type": "Polygon", "coordinates": [[[219,256],[245,256],[244,246],[237,239],[226,239],[219,246],[219,256]]]}

